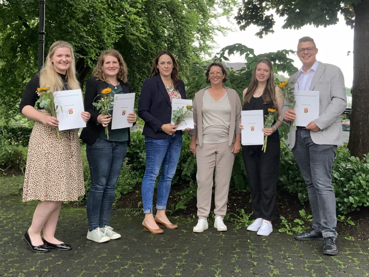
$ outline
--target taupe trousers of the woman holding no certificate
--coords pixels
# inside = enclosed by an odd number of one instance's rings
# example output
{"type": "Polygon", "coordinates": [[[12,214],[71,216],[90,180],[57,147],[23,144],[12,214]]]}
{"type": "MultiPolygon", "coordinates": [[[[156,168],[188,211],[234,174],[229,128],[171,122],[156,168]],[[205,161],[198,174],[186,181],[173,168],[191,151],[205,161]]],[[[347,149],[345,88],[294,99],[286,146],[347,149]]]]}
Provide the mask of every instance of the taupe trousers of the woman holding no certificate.
{"type": "Polygon", "coordinates": [[[228,141],[222,143],[203,143],[196,146],[197,162],[197,216],[207,219],[210,213],[213,174],[215,169],[215,215],[222,218],[227,212],[228,189],[232,175],[235,154],[228,141]]]}

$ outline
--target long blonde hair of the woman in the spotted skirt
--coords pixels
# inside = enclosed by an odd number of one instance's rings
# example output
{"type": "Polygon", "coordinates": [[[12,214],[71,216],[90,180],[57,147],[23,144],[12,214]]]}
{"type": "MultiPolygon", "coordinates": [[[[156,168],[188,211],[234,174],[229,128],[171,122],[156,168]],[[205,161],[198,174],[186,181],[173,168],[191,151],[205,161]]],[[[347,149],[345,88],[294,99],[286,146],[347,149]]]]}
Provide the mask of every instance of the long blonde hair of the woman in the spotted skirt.
{"type": "Polygon", "coordinates": [[[80,89],[80,85],[76,77],[76,64],[74,60],[73,46],[65,41],[55,41],[49,48],[45,64],[40,72],[40,87],[50,87],[51,91],[63,90],[63,80],[55,71],[54,65],[51,63],[51,58],[54,56],[56,49],[69,48],[72,58],[71,65],[67,69],[66,79],[70,89],[80,89]]]}

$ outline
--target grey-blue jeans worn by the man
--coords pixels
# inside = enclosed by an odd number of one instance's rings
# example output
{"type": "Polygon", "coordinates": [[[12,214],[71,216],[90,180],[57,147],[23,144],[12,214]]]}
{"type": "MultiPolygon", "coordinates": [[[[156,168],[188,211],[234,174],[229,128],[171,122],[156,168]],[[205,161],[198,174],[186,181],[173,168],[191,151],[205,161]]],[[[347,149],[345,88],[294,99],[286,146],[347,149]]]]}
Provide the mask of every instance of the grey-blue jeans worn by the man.
{"type": "Polygon", "coordinates": [[[313,228],[323,237],[337,237],[336,198],[332,186],[332,165],[337,145],[319,145],[311,140],[310,131],[298,128],[292,149],[304,177],[313,211],[313,228]]]}

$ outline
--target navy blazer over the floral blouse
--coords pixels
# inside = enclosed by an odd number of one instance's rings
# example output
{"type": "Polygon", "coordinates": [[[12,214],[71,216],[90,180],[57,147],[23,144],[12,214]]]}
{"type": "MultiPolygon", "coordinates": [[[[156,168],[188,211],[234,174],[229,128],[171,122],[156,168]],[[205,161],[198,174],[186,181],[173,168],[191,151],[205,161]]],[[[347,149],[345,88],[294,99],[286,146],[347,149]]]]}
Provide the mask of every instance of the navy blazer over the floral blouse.
{"type": "MultiPolygon", "coordinates": [[[[177,89],[182,99],[186,99],[182,80],[179,80],[177,89]]],[[[168,136],[165,132],[160,131],[160,128],[163,124],[170,123],[172,104],[170,104],[169,94],[160,75],[145,80],[138,103],[138,116],[145,121],[142,135],[154,139],[163,139],[168,136]]],[[[182,131],[177,132],[182,134],[182,131]]]]}

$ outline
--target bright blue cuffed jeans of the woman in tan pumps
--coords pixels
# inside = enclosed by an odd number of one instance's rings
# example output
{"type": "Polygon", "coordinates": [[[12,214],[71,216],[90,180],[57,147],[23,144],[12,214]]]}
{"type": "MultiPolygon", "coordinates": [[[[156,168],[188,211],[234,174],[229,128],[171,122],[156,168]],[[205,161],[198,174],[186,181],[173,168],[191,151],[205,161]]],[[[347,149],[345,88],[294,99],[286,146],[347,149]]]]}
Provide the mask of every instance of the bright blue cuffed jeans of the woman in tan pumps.
{"type": "Polygon", "coordinates": [[[154,197],[154,186],[156,177],[162,168],[158,184],[157,210],[166,210],[170,185],[176,173],[179,156],[182,149],[182,134],[168,135],[165,139],[154,139],[145,136],[146,145],[146,169],[142,179],[142,203],[144,213],[152,213],[152,198],[154,197]]]}

